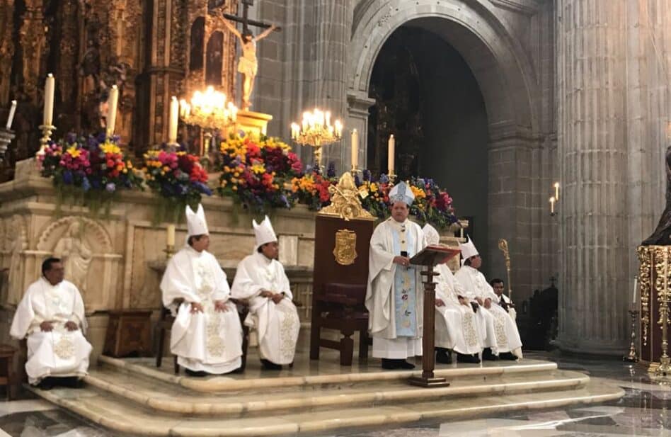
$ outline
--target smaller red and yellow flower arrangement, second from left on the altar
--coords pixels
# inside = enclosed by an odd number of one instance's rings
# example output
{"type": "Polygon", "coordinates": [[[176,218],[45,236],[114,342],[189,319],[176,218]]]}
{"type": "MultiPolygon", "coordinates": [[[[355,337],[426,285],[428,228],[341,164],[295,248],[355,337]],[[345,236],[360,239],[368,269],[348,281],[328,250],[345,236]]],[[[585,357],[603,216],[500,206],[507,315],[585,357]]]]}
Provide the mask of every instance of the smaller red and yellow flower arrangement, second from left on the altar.
{"type": "Polygon", "coordinates": [[[187,152],[149,150],[144,154],[145,183],[161,198],[155,220],[176,222],[185,206],[197,208],[202,195],[212,195],[207,186],[207,171],[200,159],[187,152]]]}

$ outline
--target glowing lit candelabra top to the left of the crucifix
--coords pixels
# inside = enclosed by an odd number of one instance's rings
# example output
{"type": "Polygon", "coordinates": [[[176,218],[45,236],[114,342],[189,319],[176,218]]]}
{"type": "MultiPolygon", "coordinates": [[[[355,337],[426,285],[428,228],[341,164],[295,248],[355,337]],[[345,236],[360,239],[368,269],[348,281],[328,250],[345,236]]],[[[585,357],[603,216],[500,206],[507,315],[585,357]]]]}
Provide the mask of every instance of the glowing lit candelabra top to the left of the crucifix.
{"type": "Polygon", "coordinates": [[[180,118],[188,125],[209,130],[221,130],[236,123],[238,108],[226,103],[226,94],[208,86],[205,92],[195,91],[191,103],[180,101],[180,118]]]}

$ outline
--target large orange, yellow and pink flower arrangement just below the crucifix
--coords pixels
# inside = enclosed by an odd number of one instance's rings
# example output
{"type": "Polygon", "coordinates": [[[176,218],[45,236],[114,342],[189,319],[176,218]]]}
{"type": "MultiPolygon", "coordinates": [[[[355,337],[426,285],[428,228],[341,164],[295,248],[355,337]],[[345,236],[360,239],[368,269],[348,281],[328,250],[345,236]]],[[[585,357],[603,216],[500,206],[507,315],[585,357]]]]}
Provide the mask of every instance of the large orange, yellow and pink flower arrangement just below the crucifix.
{"type": "Polygon", "coordinates": [[[299,176],[302,163],[291,147],[271,137],[232,134],[219,147],[222,153],[219,188],[253,212],[291,208],[287,189],[299,176]]]}

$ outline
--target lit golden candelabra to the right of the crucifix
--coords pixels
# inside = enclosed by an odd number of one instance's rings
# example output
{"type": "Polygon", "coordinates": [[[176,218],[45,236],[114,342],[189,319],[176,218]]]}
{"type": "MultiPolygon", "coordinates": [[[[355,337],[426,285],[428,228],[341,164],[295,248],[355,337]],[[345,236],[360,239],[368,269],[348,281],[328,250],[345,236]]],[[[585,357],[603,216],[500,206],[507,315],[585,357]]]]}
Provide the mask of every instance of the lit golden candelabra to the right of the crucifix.
{"type": "MultiPolygon", "coordinates": [[[[326,144],[339,141],[343,136],[343,123],[336,120],[331,125],[331,113],[315,108],[314,112],[304,112],[302,123],[292,123],[292,140],[302,146],[314,147],[314,161],[321,170],[321,149],[326,144]]],[[[352,169],[354,171],[354,169],[352,169]]]]}

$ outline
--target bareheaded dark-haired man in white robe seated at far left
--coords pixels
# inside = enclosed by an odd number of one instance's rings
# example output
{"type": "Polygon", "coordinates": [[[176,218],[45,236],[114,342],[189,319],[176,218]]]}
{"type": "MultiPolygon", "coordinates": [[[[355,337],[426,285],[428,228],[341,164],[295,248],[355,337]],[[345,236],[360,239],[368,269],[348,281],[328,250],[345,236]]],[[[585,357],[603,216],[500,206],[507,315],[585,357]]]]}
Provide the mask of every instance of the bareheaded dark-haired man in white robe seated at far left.
{"type": "Polygon", "coordinates": [[[60,259],[42,263],[42,278],[30,284],[16,308],[9,334],[28,337],[28,382],[48,390],[62,383],[79,387],[88,371],[91,344],[84,338],[84,301],[76,286],[64,280],[60,259]]]}

